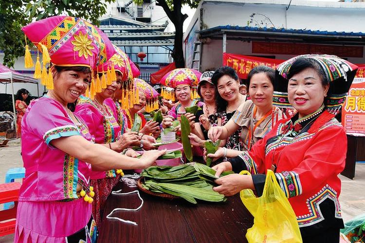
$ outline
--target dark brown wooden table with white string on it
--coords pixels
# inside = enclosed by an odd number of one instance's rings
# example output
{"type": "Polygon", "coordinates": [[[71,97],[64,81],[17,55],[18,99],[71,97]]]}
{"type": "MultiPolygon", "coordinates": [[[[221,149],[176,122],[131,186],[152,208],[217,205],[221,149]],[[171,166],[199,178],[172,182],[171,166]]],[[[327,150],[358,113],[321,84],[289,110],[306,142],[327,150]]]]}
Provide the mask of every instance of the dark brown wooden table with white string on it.
{"type": "MultiPolygon", "coordinates": [[[[119,182],[113,191],[137,190],[119,182]]],[[[140,191],[144,205],[138,211],[117,211],[113,217],[134,221],[138,226],[106,219],[114,208],[137,208],[141,204],[137,193],[110,195],[106,202],[104,220],[98,243],[110,242],[247,242],[246,230],[253,217],[244,207],[239,195],[224,203],[199,201],[193,205],[183,199],[165,199],[140,191]]]]}

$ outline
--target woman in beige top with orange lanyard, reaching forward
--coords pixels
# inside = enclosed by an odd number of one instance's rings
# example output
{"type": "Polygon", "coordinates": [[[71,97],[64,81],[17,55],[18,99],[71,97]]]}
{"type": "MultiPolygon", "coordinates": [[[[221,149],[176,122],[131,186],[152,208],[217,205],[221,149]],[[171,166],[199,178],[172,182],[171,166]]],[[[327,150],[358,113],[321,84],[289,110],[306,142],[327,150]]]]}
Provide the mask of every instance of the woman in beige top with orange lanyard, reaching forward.
{"type": "MultiPolygon", "coordinates": [[[[232,119],[224,126],[212,127],[208,135],[211,139],[226,139],[238,129],[241,129],[242,151],[248,151],[262,139],[278,119],[282,119],[281,111],[273,107],[275,71],[267,66],[257,66],[247,77],[247,85],[251,100],[241,104],[232,119]]],[[[222,149],[218,153],[223,154],[222,149]]],[[[239,155],[242,152],[226,151],[230,155],[239,155]]]]}

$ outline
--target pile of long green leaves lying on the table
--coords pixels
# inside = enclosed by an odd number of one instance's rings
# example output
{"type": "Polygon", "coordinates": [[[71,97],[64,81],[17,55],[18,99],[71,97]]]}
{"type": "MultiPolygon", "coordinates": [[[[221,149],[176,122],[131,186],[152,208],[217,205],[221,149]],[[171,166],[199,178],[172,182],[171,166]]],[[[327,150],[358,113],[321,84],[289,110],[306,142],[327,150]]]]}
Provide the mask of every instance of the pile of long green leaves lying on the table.
{"type": "MultiPolygon", "coordinates": [[[[216,171],[210,167],[194,163],[172,166],[151,166],[141,175],[145,181],[142,186],[149,191],[179,196],[197,204],[196,199],[208,202],[224,202],[224,195],[213,191],[216,171]]],[[[224,172],[221,176],[232,174],[224,172]]]]}

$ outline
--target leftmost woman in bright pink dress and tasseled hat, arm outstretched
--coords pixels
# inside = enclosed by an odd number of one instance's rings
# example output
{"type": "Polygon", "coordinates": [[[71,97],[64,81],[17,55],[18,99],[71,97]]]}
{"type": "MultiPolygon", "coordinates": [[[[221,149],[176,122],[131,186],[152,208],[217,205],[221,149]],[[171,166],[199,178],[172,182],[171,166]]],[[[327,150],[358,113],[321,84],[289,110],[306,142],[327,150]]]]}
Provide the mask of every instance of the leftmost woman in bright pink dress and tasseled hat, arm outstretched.
{"type": "MultiPolygon", "coordinates": [[[[103,43],[98,42],[94,26],[77,17],[55,16],[22,30],[42,51],[43,67],[54,64],[48,74],[45,68],[42,73],[42,82],[54,89],[31,102],[21,122],[27,144],[22,144],[25,178],[15,242],[96,242],[90,167],[104,171],[145,168],[164,152],[146,152],[144,159],[136,159],[94,144],[85,122],[67,108],[85,92],[92,80],[91,69],[101,61],[97,59],[103,43]],[[55,32],[61,42],[56,41],[55,32]]],[[[26,62],[29,57],[26,47],[26,62]]],[[[36,72],[40,72],[38,64],[36,72]]]]}

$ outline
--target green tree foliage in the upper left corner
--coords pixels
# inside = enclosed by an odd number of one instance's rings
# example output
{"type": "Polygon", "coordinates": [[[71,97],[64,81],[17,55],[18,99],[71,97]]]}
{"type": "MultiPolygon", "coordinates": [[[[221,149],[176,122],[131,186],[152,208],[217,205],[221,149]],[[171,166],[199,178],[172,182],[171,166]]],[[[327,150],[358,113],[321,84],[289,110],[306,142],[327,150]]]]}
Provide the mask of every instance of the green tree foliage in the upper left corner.
{"type": "Polygon", "coordinates": [[[33,20],[55,15],[88,19],[93,24],[106,13],[106,3],[112,0],[0,0],[0,50],[5,54],[3,64],[14,67],[15,60],[24,55],[24,33],[21,27],[33,20]]]}

